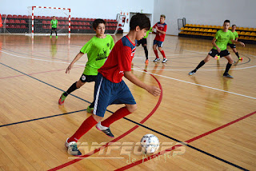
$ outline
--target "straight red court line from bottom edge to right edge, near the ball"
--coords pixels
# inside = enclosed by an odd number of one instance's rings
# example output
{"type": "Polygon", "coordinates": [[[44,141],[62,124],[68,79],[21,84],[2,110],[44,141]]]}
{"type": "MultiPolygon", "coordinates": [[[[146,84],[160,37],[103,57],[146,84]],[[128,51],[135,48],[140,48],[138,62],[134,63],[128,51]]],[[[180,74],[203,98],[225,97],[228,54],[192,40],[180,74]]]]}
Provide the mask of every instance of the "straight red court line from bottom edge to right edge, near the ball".
{"type": "MultiPolygon", "coordinates": [[[[199,136],[197,136],[197,137],[193,137],[193,138],[191,138],[190,140],[185,141],[185,143],[188,144],[188,143],[190,143],[190,142],[192,142],[192,141],[196,141],[196,140],[198,140],[198,139],[200,139],[200,138],[202,138],[202,137],[205,137],[206,135],[209,135],[210,133],[214,133],[214,132],[218,131],[219,129],[223,129],[223,128],[225,128],[226,126],[232,125],[232,124],[234,124],[234,123],[236,123],[236,122],[238,122],[238,121],[241,121],[241,120],[245,119],[246,117],[250,117],[250,116],[254,115],[255,113],[256,113],[256,111],[254,111],[253,113],[249,113],[249,114],[247,114],[246,116],[240,117],[240,118],[238,118],[237,120],[230,121],[229,123],[227,123],[227,124],[225,124],[225,125],[222,125],[222,126],[216,128],[216,129],[212,129],[212,130],[208,131],[207,133],[202,133],[201,135],[199,135],[199,136]]],[[[161,152],[159,152],[159,153],[153,154],[153,155],[151,155],[151,156],[149,156],[149,157],[146,157],[146,158],[144,158],[144,159],[142,159],[142,160],[140,160],[140,161],[136,161],[136,162],[134,162],[134,163],[131,163],[130,165],[125,165],[125,166],[123,166],[122,168],[119,168],[119,169],[116,169],[116,170],[119,171],[119,170],[130,169],[130,168],[134,167],[135,165],[139,165],[139,164],[144,163],[144,162],[146,162],[146,161],[150,161],[151,159],[153,159],[153,158],[155,158],[155,157],[158,157],[158,156],[161,156],[161,155],[164,154],[164,153],[170,152],[171,150],[174,150],[174,149],[176,149],[177,147],[180,147],[180,146],[182,146],[182,144],[181,144],[181,145],[174,145],[174,146],[171,147],[170,149],[166,149],[166,150],[161,151],[161,152]]]]}

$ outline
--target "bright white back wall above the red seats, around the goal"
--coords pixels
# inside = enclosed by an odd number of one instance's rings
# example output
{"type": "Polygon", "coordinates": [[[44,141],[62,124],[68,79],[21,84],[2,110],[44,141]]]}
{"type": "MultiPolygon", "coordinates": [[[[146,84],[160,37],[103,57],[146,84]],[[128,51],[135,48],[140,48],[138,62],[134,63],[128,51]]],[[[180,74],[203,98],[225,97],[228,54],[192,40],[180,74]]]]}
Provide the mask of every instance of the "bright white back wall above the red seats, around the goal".
{"type": "Polygon", "coordinates": [[[154,0],[1,0],[0,14],[27,15],[28,6],[50,6],[71,9],[71,17],[115,19],[122,12],[153,14],[154,0]]]}

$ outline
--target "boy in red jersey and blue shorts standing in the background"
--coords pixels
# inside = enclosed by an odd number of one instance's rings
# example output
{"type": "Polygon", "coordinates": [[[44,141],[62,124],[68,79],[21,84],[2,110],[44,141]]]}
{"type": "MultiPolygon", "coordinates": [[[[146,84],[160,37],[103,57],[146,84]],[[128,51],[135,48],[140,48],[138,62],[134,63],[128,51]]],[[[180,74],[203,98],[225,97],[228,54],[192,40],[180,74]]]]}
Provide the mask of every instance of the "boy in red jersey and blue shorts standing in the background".
{"type": "Polygon", "coordinates": [[[154,38],[154,44],[153,44],[153,50],[154,50],[154,54],[156,56],[156,58],[154,59],[154,62],[160,61],[160,58],[158,57],[158,50],[161,52],[162,57],[163,57],[162,63],[167,62],[166,54],[162,50],[162,44],[165,41],[166,30],[167,30],[167,25],[166,25],[165,20],[166,20],[166,16],[162,14],[160,16],[160,22],[157,22],[153,26],[153,28],[156,29],[156,31],[153,32],[153,34],[156,34],[156,36],[154,38]],[[158,46],[158,50],[157,50],[157,46],[158,46]]]}

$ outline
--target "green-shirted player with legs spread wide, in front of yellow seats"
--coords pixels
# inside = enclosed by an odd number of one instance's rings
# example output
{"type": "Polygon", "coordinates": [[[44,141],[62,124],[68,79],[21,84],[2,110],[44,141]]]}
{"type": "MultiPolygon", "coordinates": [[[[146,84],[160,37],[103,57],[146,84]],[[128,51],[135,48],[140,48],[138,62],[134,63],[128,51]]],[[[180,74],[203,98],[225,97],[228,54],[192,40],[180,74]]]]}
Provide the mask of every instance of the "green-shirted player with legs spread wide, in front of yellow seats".
{"type": "Polygon", "coordinates": [[[199,68],[201,68],[206,62],[209,62],[210,58],[214,58],[216,55],[219,55],[221,58],[225,57],[228,61],[223,77],[233,78],[228,73],[234,61],[230,55],[230,52],[226,50],[227,43],[231,41],[232,43],[239,43],[243,47],[245,46],[245,44],[243,42],[238,42],[234,40],[234,34],[232,34],[232,32],[229,30],[230,20],[225,20],[223,27],[224,28],[222,30],[218,30],[218,32],[215,34],[215,37],[212,41],[212,44],[214,45],[213,49],[210,50],[207,57],[202,60],[202,62],[200,62],[198,66],[189,73],[189,75],[195,74],[199,68]]]}

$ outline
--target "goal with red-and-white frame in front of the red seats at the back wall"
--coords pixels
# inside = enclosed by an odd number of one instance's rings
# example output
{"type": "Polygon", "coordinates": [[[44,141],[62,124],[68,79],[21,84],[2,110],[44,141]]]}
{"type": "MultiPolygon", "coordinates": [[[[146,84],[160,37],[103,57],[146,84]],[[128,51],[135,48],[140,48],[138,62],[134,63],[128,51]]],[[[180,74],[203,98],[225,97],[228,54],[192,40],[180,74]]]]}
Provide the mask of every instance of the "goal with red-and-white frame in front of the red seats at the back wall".
{"type": "MultiPolygon", "coordinates": [[[[56,8],[45,6],[29,6],[29,21],[28,33],[50,35],[51,27],[50,21],[55,18],[58,20],[58,35],[70,36],[70,9],[69,8],[56,8]]],[[[53,33],[54,34],[54,33],[53,33]]]]}

